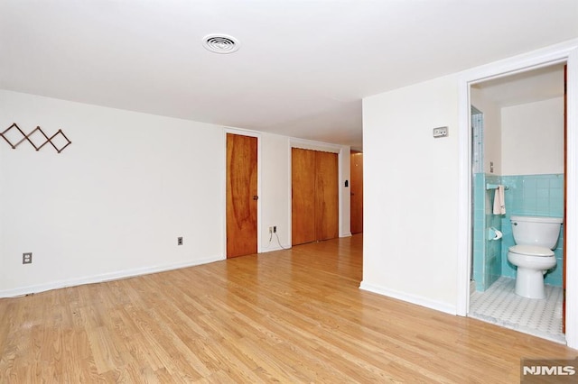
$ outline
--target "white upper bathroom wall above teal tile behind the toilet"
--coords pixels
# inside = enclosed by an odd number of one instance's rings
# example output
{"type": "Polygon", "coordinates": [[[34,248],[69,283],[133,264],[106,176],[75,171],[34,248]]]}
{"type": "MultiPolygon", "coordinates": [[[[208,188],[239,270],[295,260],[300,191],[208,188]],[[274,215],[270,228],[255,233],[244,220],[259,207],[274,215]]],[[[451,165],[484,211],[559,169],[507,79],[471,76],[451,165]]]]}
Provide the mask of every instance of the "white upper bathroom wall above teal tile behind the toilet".
{"type": "Polygon", "coordinates": [[[502,108],[502,175],[564,173],[564,98],[502,108]]]}

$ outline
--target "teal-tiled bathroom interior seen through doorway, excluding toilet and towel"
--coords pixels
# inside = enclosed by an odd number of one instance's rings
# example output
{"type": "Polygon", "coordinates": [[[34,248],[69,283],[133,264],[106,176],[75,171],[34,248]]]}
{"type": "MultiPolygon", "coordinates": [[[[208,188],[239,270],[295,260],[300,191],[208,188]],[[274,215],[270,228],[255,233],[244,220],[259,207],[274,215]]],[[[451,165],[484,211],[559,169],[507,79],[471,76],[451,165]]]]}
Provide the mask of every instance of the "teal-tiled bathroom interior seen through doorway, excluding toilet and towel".
{"type": "Polygon", "coordinates": [[[471,285],[468,315],[565,343],[564,236],[545,299],[514,293],[510,215],[564,217],[564,63],[471,85],[471,285]],[[504,191],[505,213],[493,204],[504,191]]]}

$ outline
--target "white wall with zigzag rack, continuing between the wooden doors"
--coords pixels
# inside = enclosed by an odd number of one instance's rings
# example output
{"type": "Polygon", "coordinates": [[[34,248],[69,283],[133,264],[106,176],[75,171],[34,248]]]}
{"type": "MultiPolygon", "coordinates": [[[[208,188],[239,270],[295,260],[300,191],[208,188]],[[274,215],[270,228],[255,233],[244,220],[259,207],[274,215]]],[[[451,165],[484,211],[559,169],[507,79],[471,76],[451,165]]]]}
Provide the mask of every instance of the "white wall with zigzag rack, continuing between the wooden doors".
{"type": "MultiPolygon", "coordinates": [[[[59,154],[0,140],[0,297],[225,258],[224,127],[4,90],[0,116],[3,131],[61,128],[72,142],[59,154]]],[[[274,251],[269,225],[291,240],[292,139],[259,137],[259,249],[274,251]]],[[[349,212],[348,199],[348,233],[349,212]]]]}

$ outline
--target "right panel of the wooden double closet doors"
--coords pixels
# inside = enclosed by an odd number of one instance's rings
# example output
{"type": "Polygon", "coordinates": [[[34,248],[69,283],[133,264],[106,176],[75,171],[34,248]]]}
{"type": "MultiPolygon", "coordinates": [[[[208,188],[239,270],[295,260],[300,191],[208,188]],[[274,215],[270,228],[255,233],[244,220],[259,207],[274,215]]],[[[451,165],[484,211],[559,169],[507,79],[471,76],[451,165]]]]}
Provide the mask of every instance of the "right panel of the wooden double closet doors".
{"type": "Polygon", "coordinates": [[[339,237],[340,196],[337,153],[315,151],[316,240],[339,237]]]}

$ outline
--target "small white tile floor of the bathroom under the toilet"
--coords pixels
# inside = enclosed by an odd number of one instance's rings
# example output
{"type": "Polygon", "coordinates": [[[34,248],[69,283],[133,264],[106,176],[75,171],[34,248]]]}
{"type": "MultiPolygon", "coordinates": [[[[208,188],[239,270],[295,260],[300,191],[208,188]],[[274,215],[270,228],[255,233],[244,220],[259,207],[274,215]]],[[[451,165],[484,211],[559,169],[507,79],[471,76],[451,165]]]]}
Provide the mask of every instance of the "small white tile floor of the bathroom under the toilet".
{"type": "Polygon", "coordinates": [[[485,292],[473,292],[469,316],[488,323],[566,343],[562,333],[562,288],[545,286],[545,298],[519,297],[516,279],[501,277],[485,292]]]}

